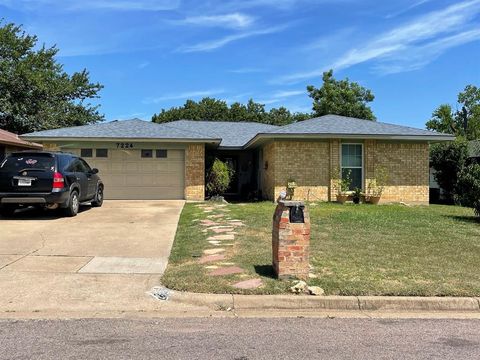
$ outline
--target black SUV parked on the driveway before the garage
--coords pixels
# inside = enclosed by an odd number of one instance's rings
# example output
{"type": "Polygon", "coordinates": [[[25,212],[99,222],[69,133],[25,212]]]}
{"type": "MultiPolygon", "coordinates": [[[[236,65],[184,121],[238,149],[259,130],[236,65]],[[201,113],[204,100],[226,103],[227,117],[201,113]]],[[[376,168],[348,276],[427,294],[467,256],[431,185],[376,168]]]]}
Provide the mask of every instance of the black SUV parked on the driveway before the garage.
{"type": "Polygon", "coordinates": [[[80,203],[102,206],[103,183],[78,156],[47,151],[22,151],[0,163],[0,214],[10,216],[19,207],[62,208],[78,213],[80,203]]]}

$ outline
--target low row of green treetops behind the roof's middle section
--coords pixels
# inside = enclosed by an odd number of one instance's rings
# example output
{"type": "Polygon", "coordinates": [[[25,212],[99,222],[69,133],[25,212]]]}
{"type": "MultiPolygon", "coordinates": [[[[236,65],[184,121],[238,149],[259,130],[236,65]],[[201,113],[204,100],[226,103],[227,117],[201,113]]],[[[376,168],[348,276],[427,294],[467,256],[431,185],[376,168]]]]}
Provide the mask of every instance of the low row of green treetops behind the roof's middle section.
{"type": "Polygon", "coordinates": [[[175,120],[211,120],[211,121],[251,121],[271,125],[286,125],[292,122],[306,120],[312,114],[292,113],[284,107],[265,110],[265,105],[252,99],[246,105],[213,98],[203,98],[200,101],[187,100],[183,106],[162,109],[152,116],[152,121],[165,123],[175,120]]]}

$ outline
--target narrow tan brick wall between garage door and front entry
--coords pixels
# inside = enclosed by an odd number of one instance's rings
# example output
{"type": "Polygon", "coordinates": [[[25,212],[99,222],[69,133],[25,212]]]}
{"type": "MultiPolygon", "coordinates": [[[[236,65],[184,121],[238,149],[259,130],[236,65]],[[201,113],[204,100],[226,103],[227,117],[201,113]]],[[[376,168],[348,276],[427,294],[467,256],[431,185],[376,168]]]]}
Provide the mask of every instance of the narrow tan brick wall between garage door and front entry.
{"type": "Polygon", "coordinates": [[[190,144],[185,150],[185,200],[205,199],[205,145],[190,144]]]}

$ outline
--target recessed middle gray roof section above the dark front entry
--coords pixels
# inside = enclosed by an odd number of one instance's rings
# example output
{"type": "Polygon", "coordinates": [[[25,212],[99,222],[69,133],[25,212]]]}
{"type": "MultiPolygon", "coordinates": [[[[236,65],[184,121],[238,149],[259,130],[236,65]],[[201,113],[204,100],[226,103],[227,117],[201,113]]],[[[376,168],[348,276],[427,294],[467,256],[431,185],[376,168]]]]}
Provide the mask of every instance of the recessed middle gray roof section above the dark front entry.
{"type": "Polygon", "coordinates": [[[186,131],[196,131],[222,139],[221,147],[241,147],[258,133],[278,129],[279,126],[254,122],[178,120],[169,126],[186,131]]]}

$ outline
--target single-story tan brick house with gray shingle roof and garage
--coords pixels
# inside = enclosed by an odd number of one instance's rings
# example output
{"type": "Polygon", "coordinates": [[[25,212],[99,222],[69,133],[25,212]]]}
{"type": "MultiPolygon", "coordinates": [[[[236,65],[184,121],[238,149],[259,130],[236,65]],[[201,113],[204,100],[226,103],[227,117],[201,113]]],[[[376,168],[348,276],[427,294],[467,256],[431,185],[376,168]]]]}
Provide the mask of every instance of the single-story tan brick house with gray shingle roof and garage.
{"type": "Polygon", "coordinates": [[[454,137],[427,130],[327,115],[286,126],[248,122],[138,119],[23,135],[69,151],[100,170],[107,199],[203,200],[205,169],[218,157],[236,176],[229,193],[276,199],[288,180],[295,198],[335,200],[336,179],[351,172],[365,188],[389,173],[382,201],[428,203],[429,143],[454,137]]]}

